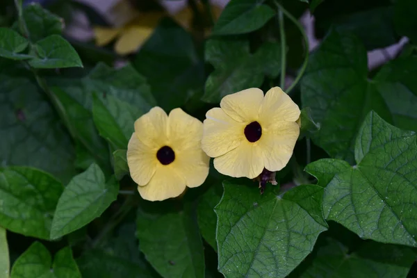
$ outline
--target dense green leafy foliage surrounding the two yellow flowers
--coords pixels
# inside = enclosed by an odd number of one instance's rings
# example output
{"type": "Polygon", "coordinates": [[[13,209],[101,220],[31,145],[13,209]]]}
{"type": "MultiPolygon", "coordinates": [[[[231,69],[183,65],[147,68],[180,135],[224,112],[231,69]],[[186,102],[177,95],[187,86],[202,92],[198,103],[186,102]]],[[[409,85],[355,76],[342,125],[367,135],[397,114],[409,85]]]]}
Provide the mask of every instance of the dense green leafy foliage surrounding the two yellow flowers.
{"type": "Polygon", "coordinates": [[[164,18],[117,68],[63,35],[68,7],[106,25],[92,8],[21,2],[0,11],[0,278],[417,277],[416,1],[231,0],[213,24],[191,0],[191,32],[164,18]],[[369,71],[367,51],[403,36],[369,71]],[[204,120],[275,85],[302,108],[280,186],[211,167],[183,197],[140,198],[126,163],[140,115],[204,120]]]}

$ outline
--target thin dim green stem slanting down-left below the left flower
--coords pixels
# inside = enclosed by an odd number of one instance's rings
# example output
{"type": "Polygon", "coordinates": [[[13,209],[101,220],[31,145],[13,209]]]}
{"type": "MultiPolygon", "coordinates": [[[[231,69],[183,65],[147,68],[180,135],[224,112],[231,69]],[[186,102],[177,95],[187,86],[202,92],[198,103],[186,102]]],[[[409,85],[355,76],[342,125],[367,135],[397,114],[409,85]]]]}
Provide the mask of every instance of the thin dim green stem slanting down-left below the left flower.
{"type": "Polygon", "coordinates": [[[135,199],[133,195],[126,198],[126,201],[120,206],[117,213],[113,214],[111,218],[108,220],[107,224],[101,230],[101,232],[97,235],[95,240],[92,241],[91,247],[96,248],[99,247],[103,241],[109,236],[111,231],[117,227],[120,222],[129,214],[131,209],[133,208],[133,204],[135,203],[135,199]]]}

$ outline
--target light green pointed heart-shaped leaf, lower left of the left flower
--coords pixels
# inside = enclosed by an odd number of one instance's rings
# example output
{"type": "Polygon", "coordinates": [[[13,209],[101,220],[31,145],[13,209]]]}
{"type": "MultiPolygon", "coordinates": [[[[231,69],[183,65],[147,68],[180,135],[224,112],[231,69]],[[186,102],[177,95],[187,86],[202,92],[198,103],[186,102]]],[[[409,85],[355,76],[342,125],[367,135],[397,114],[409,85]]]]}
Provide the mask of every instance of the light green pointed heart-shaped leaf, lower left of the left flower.
{"type": "Polygon", "coordinates": [[[119,185],[107,183],[103,172],[92,164],[65,187],[52,221],[51,239],[60,238],[98,218],[115,201],[119,185]]]}

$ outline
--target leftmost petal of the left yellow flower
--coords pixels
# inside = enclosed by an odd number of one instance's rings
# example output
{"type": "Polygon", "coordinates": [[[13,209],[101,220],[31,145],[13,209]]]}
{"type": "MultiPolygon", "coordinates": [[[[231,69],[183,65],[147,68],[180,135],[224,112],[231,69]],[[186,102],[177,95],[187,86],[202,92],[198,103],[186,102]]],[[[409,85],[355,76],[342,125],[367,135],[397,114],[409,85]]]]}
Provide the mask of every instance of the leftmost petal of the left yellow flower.
{"type": "Polygon", "coordinates": [[[127,165],[133,181],[145,186],[155,173],[158,160],[156,151],[147,147],[133,132],[127,145],[127,165]]]}

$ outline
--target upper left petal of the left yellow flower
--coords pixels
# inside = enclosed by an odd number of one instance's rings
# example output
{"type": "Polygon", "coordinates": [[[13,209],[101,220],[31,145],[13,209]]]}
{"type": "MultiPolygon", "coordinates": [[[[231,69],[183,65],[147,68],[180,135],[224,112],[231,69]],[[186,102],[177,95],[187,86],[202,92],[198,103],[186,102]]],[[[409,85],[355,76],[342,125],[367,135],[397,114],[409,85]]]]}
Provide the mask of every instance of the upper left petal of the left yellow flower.
{"type": "MultiPolygon", "coordinates": [[[[168,116],[161,107],[154,107],[135,122],[135,132],[143,144],[156,152],[167,145],[168,116]]],[[[155,154],[156,154],[155,152],[155,154]]]]}

